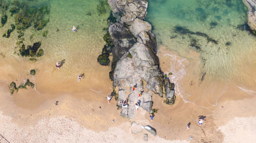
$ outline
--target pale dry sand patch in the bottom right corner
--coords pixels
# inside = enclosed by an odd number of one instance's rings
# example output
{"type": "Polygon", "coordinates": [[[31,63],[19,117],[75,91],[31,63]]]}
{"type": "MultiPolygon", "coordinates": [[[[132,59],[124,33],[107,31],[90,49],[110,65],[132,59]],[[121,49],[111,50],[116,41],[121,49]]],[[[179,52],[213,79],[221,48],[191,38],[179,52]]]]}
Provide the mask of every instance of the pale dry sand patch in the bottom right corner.
{"type": "Polygon", "coordinates": [[[218,128],[225,134],[223,142],[256,142],[256,117],[236,117],[218,128]]]}

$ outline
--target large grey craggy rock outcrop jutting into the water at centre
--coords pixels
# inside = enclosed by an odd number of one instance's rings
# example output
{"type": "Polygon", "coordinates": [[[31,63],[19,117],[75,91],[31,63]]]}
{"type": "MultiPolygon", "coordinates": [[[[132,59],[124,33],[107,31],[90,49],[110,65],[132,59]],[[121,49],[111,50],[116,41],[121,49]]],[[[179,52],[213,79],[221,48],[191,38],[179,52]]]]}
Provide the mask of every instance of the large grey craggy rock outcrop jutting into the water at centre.
{"type": "Polygon", "coordinates": [[[108,3],[113,10],[109,19],[115,17],[109,22],[110,41],[113,42],[110,78],[118,94],[121,116],[132,119],[138,101],[140,107],[152,113],[152,94],[163,97],[163,89],[166,99],[174,103],[174,90],[159,68],[156,37],[151,24],[144,20],[147,1],[109,0],[108,3]],[[122,106],[125,100],[129,104],[122,106]]]}

